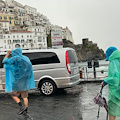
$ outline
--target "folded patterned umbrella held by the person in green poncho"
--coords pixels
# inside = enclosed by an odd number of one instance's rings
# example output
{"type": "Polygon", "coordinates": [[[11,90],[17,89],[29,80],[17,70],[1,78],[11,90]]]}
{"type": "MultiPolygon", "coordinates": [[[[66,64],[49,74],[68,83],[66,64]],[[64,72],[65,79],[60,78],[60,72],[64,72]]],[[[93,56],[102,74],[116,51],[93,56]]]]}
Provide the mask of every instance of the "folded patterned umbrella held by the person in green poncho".
{"type": "Polygon", "coordinates": [[[98,115],[97,115],[97,120],[99,118],[99,113],[100,113],[100,107],[104,107],[106,112],[107,112],[107,117],[106,117],[106,120],[108,120],[108,106],[107,106],[107,102],[106,102],[106,99],[104,97],[102,97],[102,89],[103,89],[103,86],[101,87],[101,90],[100,90],[100,93],[98,93],[94,98],[93,98],[93,101],[99,105],[99,108],[98,108],[98,115]]]}

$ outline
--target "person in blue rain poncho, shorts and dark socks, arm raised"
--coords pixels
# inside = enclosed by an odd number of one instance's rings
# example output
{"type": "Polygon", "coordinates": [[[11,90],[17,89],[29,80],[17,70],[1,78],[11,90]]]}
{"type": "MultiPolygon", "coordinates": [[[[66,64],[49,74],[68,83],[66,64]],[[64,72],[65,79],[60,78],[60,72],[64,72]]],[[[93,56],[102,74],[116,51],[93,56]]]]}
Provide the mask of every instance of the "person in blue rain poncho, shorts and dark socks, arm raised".
{"type": "Polygon", "coordinates": [[[20,106],[18,114],[27,113],[28,90],[35,88],[32,64],[27,56],[22,55],[22,49],[8,51],[3,59],[5,68],[5,90],[12,92],[12,98],[20,106]],[[12,55],[11,58],[8,58],[12,55]],[[24,105],[19,96],[23,98],[24,105]]]}

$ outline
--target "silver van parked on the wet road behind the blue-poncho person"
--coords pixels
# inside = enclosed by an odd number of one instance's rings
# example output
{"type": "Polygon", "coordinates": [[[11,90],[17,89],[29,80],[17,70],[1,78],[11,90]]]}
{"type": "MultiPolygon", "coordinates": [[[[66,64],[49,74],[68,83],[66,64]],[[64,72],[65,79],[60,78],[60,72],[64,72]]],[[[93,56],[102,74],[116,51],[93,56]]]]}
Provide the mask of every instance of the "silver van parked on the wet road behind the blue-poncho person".
{"type": "MultiPolygon", "coordinates": [[[[2,60],[6,53],[0,53],[0,79],[5,83],[2,60]]],[[[72,48],[23,50],[31,60],[36,88],[44,95],[52,95],[57,88],[72,87],[80,82],[79,65],[72,48]]],[[[4,85],[3,85],[4,88],[4,85]]]]}

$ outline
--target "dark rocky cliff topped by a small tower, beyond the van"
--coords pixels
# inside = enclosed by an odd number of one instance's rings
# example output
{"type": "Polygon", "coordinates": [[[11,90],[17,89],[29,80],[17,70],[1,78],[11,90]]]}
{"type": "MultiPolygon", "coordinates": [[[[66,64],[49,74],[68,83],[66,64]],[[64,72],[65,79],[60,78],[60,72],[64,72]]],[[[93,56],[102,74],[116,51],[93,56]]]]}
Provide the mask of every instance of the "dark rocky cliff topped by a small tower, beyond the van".
{"type": "Polygon", "coordinates": [[[94,44],[92,41],[89,41],[88,38],[82,39],[82,44],[78,45],[74,45],[68,40],[63,40],[63,47],[74,48],[78,56],[78,61],[86,61],[89,59],[105,59],[104,51],[102,49],[99,49],[97,44],[94,44]]]}

